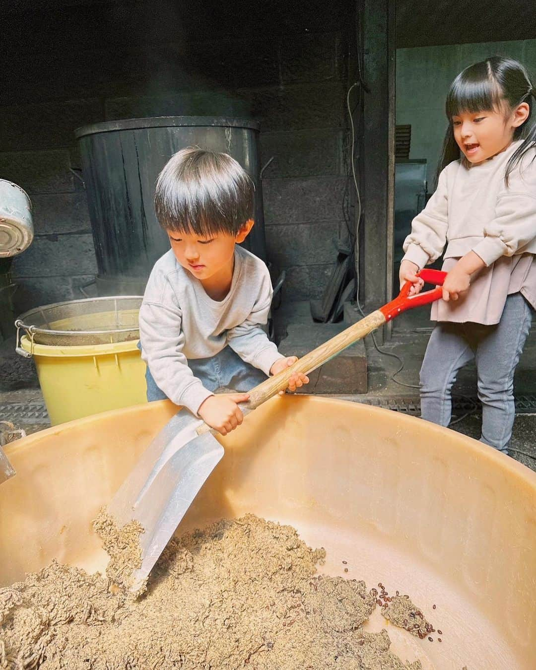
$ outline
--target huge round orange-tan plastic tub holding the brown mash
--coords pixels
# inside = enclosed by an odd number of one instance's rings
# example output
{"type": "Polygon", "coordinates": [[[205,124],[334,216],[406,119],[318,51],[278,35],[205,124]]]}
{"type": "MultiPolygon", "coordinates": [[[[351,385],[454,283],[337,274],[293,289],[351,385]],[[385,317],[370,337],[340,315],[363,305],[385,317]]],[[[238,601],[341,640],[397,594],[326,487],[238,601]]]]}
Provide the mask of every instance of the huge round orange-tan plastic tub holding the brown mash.
{"type": "MultiPolygon", "coordinates": [[[[17,475],[0,486],[0,584],[53,558],[103,569],[90,521],[174,411],[149,403],[7,446],[17,475]]],[[[432,644],[387,626],[403,658],[534,670],[535,473],[431,423],[318,397],[277,397],[221,441],[182,530],[246,512],[291,523],[326,547],[326,572],[409,593],[442,629],[432,644]]],[[[367,624],[386,625],[379,612],[367,624]]]]}

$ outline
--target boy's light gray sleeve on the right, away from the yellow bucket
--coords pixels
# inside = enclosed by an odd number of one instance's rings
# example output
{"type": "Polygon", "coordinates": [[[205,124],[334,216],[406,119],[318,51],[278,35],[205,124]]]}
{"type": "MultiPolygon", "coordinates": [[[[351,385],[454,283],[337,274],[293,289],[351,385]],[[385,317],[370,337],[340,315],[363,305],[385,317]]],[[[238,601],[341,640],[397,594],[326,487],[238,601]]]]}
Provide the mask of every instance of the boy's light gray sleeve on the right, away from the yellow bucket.
{"type": "Polygon", "coordinates": [[[285,358],[261,328],[268,321],[272,294],[270,275],[266,270],[251,314],[244,322],[227,331],[227,343],[230,348],[237,352],[242,360],[259,368],[265,375],[270,374],[271,366],[276,360],[285,358]]]}

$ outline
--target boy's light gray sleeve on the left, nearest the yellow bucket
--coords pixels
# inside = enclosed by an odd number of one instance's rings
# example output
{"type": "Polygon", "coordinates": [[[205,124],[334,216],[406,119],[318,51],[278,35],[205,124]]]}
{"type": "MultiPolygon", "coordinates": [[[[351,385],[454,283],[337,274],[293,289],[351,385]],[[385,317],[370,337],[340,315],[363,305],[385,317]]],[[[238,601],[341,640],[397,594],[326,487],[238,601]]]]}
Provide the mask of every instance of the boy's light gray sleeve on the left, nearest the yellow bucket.
{"type": "MultiPolygon", "coordinates": [[[[188,367],[182,352],[182,312],[176,298],[166,291],[165,302],[143,302],[139,310],[142,357],[159,389],[176,403],[197,414],[200,405],[213,395],[188,367]]],[[[174,294],[173,294],[174,295],[174,294]]]]}

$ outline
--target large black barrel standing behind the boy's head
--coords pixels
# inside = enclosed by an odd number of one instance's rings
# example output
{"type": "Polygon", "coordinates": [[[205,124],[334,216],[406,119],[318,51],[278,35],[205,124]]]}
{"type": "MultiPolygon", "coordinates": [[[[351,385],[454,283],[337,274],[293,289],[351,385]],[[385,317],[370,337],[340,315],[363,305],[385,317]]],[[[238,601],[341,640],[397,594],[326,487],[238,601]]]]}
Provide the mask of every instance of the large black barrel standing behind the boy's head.
{"type": "Polygon", "coordinates": [[[100,293],[146,281],[170,248],[153,205],[156,178],[176,151],[198,145],[237,159],[255,184],[255,226],[244,246],[266,260],[259,124],[225,117],[155,117],[78,128],[100,293]],[[103,287],[106,287],[103,289],[103,287]]]}

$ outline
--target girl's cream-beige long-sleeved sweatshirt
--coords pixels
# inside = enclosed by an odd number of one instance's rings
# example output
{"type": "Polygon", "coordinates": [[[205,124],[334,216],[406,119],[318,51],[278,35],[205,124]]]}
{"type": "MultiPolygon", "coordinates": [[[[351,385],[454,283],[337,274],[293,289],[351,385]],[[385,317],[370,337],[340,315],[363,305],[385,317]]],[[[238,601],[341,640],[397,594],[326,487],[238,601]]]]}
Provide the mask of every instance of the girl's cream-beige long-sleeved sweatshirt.
{"type": "Polygon", "coordinates": [[[491,265],[501,256],[536,253],[536,149],[509,175],[507,163],[521,140],[505,151],[469,166],[464,159],[447,165],[438,188],[411,224],[404,259],[419,268],[474,251],[491,265]]]}

